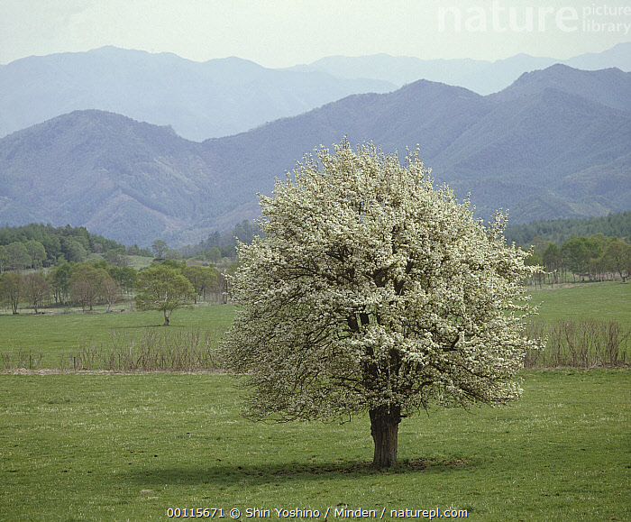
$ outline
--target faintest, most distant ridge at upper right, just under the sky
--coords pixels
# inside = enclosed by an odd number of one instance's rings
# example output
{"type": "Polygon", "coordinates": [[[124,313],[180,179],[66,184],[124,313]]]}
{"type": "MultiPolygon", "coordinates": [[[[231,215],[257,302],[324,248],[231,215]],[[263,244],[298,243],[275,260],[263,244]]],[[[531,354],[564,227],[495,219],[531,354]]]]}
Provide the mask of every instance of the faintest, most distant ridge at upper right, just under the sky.
{"type": "Polygon", "coordinates": [[[631,71],[631,42],[599,53],[581,54],[569,60],[518,54],[506,60],[422,60],[413,57],[375,54],[371,56],[334,56],[289,70],[328,72],[339,78],[377,78],[403,86],[417,79],[428,79],[466,87],[489,95],[508,87],[525,72],[562,63],[579,69],[617,68],[631,71]]]}

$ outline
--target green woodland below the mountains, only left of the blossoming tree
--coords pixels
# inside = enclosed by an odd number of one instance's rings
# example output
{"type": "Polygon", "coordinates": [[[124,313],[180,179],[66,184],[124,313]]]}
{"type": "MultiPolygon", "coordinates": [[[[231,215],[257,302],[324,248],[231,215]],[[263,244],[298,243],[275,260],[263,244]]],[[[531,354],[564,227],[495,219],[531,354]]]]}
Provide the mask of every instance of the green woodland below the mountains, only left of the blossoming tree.
{"type": "Polygon", "coordinates": [[[191,283],[194,303],[221,304],[229,292],[225,275],[236,269],[236,238],[251,242],[255,229],[244,221],[230,233],[210,234],[178,251],[163,240],[154,241],[151,249],[125,247],[82,226],[6,226],[0,228],[0,304],[13,314],[20,307],[35,314],[47,307],[90,312],[102,306],[110,312],[134,298],[139,272],[156,264],[191,283]]]}

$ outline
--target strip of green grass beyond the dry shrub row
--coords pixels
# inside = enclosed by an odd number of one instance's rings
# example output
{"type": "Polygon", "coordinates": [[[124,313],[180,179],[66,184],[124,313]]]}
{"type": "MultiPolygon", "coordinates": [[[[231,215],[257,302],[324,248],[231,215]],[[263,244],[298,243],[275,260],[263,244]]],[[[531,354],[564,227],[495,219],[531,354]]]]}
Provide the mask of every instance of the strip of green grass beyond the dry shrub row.
{"type": "MultiPolygon", "coordinates": [[[[631,329],[631,284],[584,284],[570,288],[529,292],[531,304],[539,307],[539,317],[547,323],[560,319],[601,318],[618,321],[631,329]]],[[[147,327],[161,328],[161,312],[125,312],[105,314],[52,314],[33,316],[0,315],[0,352],[41,352],[44,363],[56,368],[58,356],[81,346],[112,343],[114,332],[137,338],[147,327]]],[[[233,306],[200,306],[176,310],[171,316],[171,330],[202,328],[221,334],[232,322],[233,306]]]]}

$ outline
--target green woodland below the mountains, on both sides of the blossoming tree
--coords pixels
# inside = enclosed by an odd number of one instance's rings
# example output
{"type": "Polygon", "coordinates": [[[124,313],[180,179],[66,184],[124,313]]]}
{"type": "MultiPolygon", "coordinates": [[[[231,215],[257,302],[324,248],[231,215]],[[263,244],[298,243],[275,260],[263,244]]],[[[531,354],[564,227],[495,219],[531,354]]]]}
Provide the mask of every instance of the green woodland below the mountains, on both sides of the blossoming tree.
{"type": "MultiPolygon", "coordinates": [[[[228,274],[237,267],[236,242],[251,243],[258,227],[243,220],[230,233],[214,232],[196,245],[171,249],[155,240],[150,249],[125,246],[85,227],[28,224],[0,228],[0,304],[35,313],[47,307],[83,312],[131,301],[139,270],[165,264],[186,277],[194,302],[228,302],[228,274]]],[[[631,273],[631,212],[589,219],[512,225],[508,243],[530,250],[527,262],[542,270],[527,284],[622,280],[631,273]]],[[[131,305],[133,306],[133,305],[131,305]]]]}

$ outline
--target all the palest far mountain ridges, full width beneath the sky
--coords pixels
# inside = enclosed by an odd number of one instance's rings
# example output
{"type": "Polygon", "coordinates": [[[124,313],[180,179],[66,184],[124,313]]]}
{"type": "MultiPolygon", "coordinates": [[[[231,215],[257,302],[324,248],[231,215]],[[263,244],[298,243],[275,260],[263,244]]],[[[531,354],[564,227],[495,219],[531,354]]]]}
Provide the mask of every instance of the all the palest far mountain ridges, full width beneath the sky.
{"type": "Polygon", "coordinates": [[[386,54],[328,57],[288,69],[238,58],[197,62],[171,53],[104,47],[0,65],[0,137],[75,110],[100,109],[171,125],[201,142],[361,93],[387,93],[419,79],[488,95],[524,72],[562,63],[631,70],[631,42],[569,60],[526,54],[497,60],[421,60],[386,54]]]}

